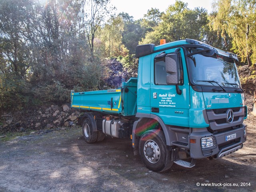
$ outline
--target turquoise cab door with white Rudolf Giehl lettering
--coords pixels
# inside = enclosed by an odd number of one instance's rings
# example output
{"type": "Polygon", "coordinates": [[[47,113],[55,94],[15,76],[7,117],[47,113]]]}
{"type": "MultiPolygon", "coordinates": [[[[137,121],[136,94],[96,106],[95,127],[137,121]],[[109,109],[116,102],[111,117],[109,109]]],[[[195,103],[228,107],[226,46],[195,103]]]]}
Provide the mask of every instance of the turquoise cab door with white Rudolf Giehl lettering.
{"type": "Polygon", "coordinates": [[[150,107],[151,114],[159,116],[167,125],[189,126],[189,83],[182,48],[173,48],[164,52],[152,54],[151,61],[151,82],[150,82],[150,107]],[[166,55],[178,55],[178,87],[181,94],[178,94],[175,85],[168,85],[166,82],[166,55]],[[165,56],[160,56],[160,54],[165,56]]]}

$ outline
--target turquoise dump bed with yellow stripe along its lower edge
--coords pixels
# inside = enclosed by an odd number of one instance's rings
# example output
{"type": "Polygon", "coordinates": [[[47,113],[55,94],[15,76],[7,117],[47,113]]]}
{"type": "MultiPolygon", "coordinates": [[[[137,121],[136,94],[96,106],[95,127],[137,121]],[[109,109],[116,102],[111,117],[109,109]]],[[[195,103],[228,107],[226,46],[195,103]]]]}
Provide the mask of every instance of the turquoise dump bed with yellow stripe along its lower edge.
{"type": "Polygon", "coordinates": [[[122,82],[122,87],[112,90],[71,92],[71,107],[100,111],[104,114],[133,116],[136,114],[137,78],[122,82]]]}

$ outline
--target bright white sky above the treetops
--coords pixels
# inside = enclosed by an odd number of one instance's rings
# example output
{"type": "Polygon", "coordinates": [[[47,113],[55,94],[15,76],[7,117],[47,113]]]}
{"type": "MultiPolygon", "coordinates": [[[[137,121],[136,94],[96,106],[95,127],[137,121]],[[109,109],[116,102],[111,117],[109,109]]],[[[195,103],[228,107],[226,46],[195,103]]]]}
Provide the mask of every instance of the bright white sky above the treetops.
{"type": "MultiPolygon", "coordinates": [[[[202,7],[212,11],[214,0],[181,0],[188,3],[188,8],[202,7]]],[[[133,16],[134,20],[143,18],[144,14],[151,8],[157,8],[165,12],[169,5],[175,3],[175,0],[111,0],[110,4],[117,8],[116,13],[125,12],[133,16]]]]}

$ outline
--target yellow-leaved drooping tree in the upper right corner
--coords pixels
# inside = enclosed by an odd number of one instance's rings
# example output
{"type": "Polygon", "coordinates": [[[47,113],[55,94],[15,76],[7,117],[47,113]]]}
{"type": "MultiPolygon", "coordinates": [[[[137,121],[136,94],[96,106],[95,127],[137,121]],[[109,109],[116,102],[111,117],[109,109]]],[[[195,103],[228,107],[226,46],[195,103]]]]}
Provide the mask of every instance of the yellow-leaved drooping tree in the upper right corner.
{"type": "Polygon", "coordinates": [[[256,62],[256,1],[218,0],[216,14],[210,17],[212,28],[226,40],[232,38],[232,50],[249,66],[256,62]]]}

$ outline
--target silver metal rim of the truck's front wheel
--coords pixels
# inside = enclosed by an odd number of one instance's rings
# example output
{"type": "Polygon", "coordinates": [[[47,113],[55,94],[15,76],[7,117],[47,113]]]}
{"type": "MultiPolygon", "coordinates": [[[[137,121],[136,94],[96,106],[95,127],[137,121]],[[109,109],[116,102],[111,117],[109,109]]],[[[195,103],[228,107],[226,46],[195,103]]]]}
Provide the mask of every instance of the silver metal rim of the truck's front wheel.
{"type": "Polygon", "coordinates": [[[144,144],[144,156],[150,163],[157,163],[160,158],[160,149],[156,142],[147,140],[144,144]]]}

